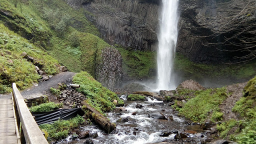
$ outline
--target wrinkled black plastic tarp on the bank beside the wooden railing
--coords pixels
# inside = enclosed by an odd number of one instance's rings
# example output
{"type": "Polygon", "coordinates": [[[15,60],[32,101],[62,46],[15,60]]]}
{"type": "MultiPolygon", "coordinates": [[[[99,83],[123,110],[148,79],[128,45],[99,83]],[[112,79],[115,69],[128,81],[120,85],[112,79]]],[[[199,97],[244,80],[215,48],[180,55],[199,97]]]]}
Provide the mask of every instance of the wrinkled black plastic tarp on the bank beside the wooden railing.
{"type": "Polygon", "coordinates": [[[36,123],[51,123],[58,119],[68,120],[78,115],[83,115],[81,108],[58,109],[48,112],[31,112],[36,123]]]}

